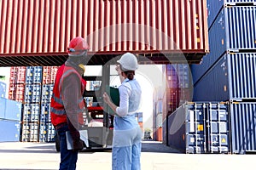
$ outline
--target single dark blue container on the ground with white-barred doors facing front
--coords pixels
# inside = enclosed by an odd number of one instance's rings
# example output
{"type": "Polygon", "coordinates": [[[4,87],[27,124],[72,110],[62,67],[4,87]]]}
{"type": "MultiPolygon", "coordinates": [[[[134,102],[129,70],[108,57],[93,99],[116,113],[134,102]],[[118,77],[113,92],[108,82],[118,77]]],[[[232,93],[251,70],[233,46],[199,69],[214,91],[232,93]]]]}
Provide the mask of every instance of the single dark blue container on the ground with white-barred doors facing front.
{"type": "Polygon", "coordinates": [[[167,145],[185,153],[230,152],[228,105],[186,103],[168,116],[167,145]]]}

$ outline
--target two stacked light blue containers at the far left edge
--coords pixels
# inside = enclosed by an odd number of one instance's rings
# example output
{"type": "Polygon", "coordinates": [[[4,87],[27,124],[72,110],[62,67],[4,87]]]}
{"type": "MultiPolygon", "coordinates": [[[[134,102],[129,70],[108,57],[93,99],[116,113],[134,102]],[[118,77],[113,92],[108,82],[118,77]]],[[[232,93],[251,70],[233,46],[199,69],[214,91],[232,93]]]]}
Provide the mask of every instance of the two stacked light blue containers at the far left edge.
{"type": "Polygon", "coordinates": [[[20,141],[20,102],[0,98],[0,142],[20,141]]]}

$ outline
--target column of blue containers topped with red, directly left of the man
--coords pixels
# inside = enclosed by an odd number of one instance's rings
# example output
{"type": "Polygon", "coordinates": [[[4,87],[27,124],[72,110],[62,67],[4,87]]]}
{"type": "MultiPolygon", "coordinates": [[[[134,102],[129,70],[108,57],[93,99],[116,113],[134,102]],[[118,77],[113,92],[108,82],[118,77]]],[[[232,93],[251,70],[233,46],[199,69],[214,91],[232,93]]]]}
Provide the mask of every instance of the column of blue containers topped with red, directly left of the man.
{"type": "Polygon", "coordinates": [[[44,66],[43,68],[39,142],[54,141],[55,128],[50,121],[50,99],[58,68],[58,66],[44,66]]]}

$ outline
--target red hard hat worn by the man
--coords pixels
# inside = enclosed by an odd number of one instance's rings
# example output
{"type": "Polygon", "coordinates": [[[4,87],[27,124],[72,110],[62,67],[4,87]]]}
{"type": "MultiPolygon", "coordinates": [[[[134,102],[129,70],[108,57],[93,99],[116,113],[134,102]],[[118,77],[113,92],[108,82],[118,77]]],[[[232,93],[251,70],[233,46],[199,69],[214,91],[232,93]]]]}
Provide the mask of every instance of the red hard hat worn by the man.
{"type": "Polygon", "coordinates": [[[82,37],[74,37],[67,48],[67,53],[81,53],[89,49],[88,43],[82,37]]]}

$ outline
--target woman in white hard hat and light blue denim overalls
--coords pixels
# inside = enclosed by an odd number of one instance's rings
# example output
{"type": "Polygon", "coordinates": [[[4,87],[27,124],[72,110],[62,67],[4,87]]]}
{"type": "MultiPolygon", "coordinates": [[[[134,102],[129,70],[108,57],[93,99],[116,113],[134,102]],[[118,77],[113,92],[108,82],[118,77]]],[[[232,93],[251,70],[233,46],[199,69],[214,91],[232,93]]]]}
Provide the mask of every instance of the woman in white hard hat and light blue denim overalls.
{"type": "Polygon", "coordinates": [[[142,132],[135,114],[139,109],[142,90],[134,78],[138,68],[134,54],[123,54],[117,61],[116,70],[122,84],[119,86],[119,106],[114,105],[108,94],[103,94],[104,101],[115,111],[113,122],[113,170],[140,170],[142,132]]]}

